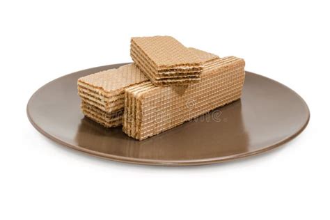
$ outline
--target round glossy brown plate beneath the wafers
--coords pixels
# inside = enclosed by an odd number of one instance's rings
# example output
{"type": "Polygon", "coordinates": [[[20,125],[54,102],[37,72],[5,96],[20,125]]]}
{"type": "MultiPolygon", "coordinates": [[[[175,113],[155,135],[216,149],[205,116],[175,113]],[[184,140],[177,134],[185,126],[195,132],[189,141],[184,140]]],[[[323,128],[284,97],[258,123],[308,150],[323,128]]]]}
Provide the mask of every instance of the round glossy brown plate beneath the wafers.
{"type": "Polygon", "coordinates": [[[104,128],[79,109],[77,79],[118,68],[106,65],[65,75],[42,86],[27,105],[32,125],[63,146],[120,162],[167,166],[213,164],[256,155],[304,130],[309,110],[290,88],[246,72],[242,99],[196,120],[136,141],[122,127],[104,128]]]}

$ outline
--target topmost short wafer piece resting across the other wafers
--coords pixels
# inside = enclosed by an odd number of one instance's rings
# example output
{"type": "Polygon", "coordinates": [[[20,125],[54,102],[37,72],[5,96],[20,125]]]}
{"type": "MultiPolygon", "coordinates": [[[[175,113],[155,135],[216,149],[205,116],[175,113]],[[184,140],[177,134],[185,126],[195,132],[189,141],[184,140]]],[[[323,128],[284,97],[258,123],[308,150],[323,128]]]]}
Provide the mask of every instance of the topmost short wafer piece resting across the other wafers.
{"type": "Polygon", "coordinates": [[[169,36],[132,38],[131,57],[155,86],[178,86],[201,80],[201,60],[169,36]]]}

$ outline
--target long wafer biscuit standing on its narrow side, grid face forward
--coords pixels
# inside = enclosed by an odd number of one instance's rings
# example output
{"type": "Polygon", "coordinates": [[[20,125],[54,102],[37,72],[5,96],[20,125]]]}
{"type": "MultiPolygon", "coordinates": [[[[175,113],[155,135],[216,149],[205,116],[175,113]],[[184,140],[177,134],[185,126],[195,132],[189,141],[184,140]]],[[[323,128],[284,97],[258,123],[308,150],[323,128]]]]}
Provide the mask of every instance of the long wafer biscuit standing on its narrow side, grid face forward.
{"type": "Polygon", "coordinates": [[[229,56],[214,58],[206,65],[212,68],[203,72],[201,82],[186,88],[157,87],[150,82],[126,88],[123,131],[143,140],[238,100],[244,84],[244,60],[229,56]]]}

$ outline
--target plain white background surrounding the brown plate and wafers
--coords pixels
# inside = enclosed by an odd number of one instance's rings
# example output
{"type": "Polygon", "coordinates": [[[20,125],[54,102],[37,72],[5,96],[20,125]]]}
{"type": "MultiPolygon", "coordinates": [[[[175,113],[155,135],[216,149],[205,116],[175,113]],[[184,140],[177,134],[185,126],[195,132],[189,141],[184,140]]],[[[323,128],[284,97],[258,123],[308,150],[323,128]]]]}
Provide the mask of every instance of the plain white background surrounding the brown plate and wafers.
{"type": "Polygon", "coordinates": [[[0,1],[0,219],[329,219],[329,12],[327,1],[0,1]],[[29,123],[40,86],[129,62],[130,38],[155,35],[244,58],[306,100],[308,127],[264,155],[166,168],[68,150],[29,123]]]}

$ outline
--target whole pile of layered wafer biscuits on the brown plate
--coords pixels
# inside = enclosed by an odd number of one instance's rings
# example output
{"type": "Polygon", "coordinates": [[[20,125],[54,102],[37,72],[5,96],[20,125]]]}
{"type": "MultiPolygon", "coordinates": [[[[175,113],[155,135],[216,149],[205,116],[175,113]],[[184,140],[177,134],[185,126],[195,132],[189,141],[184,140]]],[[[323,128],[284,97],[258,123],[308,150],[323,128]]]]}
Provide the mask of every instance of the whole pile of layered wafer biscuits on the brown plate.
{"type": "Polygon", "coordinates": [[[168,36],[132,38],[134,63],[78,80],[81,110],[143,140],[238,100],[244,60],[184,47],[168,36]]]}

